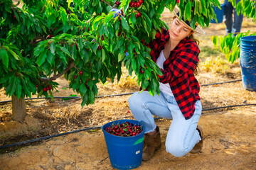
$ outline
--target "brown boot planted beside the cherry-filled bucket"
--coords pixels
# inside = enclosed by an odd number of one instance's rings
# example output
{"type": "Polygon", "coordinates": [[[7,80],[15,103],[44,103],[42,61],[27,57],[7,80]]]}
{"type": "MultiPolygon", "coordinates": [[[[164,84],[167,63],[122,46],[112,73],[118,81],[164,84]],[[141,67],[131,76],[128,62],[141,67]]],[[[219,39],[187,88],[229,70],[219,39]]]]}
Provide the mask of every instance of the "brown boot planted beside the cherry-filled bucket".
{"type": "Polygon", "coordinates": [[[156,150],[161,148],[161,136],[158,126],[156,126],[156,134],[144,136],[144,144],[142,160],[147,161],[153,157],[156,150]]]}

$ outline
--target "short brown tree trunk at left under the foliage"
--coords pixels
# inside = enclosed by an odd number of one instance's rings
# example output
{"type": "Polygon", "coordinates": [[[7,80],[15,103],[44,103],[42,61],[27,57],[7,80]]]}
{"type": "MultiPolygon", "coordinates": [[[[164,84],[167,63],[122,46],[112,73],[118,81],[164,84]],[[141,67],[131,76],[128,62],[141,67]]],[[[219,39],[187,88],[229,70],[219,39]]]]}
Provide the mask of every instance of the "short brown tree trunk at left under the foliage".
{"type": "Polygon", "coordinates": [[[23,122],[26,116],[26,104],[23,98],[17,98],[16,96],[11,96],[12,104],[12,118],[18,122],[23,122]]]}

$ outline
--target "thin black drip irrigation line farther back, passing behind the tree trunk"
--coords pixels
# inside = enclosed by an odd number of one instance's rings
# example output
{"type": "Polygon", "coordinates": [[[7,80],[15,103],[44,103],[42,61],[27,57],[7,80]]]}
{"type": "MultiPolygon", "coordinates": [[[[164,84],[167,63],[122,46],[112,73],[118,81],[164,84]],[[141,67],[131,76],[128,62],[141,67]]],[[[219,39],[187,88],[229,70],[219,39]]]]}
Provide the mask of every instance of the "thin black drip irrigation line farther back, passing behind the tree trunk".
{"type": "MultiPolygon", "coordinates": [[[[216,85],[216,84],[225,84],[225,83],[232,83],[232,82],[236,82],[236,81],[242,81],[242,79],[237,79],[237,80],[232,80],[232,81],[223,81],[220,83],[213,83],[213,84],[202,84],[200,86],[210,86],[210,85],[216,85]]],[[[97,96],[97,98],[102,98],[102,97],[112,97],[112,96],[124,96],[124,95],[130,95],[130,94],[134,94],[135,92],[130,92],[130,93],[126,93],[126,94],[110,94],[110,95],[105,95],[105,96],[97,96]]],[[[24,98],[24,100],[33,100],[33,99],[43,99],[46,97],[40,97],[40,98],[24,98]]],[[[48,96],[47,98],[50,98],[50,96],[48,96]]],[[[80,96],[53,96],[53,98],[81,98],[80,96]]],[[[11,100],[9,101],[0,101],[0,103],[8,103],[11,102],[11,100]]]]}

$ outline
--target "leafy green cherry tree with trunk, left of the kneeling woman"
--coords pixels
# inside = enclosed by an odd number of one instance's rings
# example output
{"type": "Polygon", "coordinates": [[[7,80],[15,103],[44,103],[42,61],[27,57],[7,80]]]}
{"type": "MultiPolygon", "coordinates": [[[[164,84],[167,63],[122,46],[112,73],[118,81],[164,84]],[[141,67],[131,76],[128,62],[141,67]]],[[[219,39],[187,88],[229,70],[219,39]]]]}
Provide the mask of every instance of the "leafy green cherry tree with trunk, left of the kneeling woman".
{"type": "Polygon", "coordinates": [[[12,97],[14,119],[26,115],[26,96],[48,95],[65,76],[80,94],[82,106],[94,103],[99,81],[120,79],[122,66],[137,76],[137,84],[159,94],[159,67],[146,43],[157,30],[164,8],[177,5],[181,16],[201,26],[215,18],[218,0],[23,0],[18,8],[0,0],[0,89],[12,97]],[[121,9],[121,13],[111,11],[121,9]],[[114,17],[117,15],[117,17],[114,17]]]}

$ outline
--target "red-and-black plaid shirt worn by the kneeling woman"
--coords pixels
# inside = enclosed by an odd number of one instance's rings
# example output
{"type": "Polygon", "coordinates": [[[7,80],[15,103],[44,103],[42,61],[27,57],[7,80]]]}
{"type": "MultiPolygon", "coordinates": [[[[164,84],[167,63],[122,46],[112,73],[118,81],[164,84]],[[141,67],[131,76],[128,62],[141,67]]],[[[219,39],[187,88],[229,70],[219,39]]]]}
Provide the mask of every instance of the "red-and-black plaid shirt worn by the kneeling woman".
{"type": "MultiPolygon", "coordinates": [[[[166,42],[169,40],[169,30],[161,28],[154,40],[149,42],[147,47],[151,49],[151,59],[156,62],[161,50],[164,50],[166,42]]],[[[192,117],[195,111],[195,103],[200,100],[198,95],[200,87],[193,71],[198,63],[199,48],[196,42],[184,38],[171,51],[169,58],[164,62],[161,83],[169,83],[174,94],[178,107],[185,119],[192,117]]]]}

